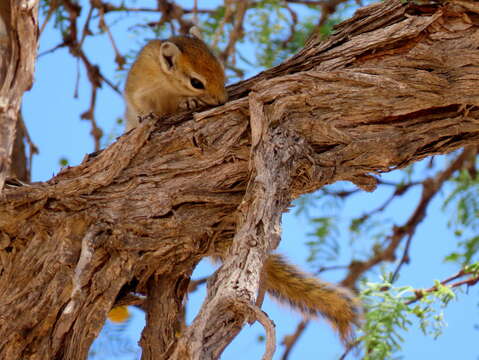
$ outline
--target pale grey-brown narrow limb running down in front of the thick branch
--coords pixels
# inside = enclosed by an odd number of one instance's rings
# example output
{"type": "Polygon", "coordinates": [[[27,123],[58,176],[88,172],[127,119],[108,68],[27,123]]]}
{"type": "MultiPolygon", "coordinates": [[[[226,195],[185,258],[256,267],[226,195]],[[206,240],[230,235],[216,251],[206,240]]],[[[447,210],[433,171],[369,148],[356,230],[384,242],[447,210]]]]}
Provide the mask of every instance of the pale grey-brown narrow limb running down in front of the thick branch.
{"type": "Polygon", "coordinates": [[[291,200],[291,174],[296,170],[292,167],[305,156],[304,148],[295,134],[270,127],[254,93],[249,108],[253,178],[239,207],[238,231],[230,256],[209,284],[204,306],[180,339],[174,359],[217,359],[248,316],[256,318],[238,303],[254,306],[262,264],[279,244],[281,214],[291,200]]]}

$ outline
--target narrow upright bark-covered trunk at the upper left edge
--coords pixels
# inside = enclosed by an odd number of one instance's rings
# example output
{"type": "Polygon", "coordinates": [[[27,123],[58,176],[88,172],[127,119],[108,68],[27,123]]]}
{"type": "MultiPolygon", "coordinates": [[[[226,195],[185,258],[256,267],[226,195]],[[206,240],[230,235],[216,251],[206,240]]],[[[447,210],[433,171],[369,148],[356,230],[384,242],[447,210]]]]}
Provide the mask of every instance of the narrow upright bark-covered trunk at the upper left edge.
{"type": "Polygon", "coordinates": [[[12,163],[22,95],[32,86],[37,13],[38,0],[3,0],[0,4],[0,192],[12,163]]]}

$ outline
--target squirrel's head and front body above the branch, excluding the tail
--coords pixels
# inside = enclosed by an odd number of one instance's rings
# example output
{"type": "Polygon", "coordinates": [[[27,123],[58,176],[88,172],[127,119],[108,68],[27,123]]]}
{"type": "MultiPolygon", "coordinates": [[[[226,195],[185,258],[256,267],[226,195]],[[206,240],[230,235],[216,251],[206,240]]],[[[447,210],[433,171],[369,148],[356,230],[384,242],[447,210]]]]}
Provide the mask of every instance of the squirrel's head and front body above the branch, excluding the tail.
{"type": "Polygon", "coordinates": [[[128,131],[138,126],[139,116],[224,104],[228,93],[223,66],[194,26],[188,35],[143,47],[128,73],[124,98],[128,131]]]}

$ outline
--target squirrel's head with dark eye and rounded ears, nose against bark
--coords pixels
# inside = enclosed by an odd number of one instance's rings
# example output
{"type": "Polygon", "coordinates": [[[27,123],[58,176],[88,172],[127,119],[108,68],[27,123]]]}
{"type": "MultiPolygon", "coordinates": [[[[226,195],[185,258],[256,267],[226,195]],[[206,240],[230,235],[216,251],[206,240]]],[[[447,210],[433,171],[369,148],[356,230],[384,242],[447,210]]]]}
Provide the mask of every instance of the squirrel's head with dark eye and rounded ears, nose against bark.
{"type": "Polygon", "coordinates": [[[190,35],[161,41],[159,62],[178,94],[195,97],[208,105],[223,104],[228,99],[223,66],[195,28],[190,35]]]}

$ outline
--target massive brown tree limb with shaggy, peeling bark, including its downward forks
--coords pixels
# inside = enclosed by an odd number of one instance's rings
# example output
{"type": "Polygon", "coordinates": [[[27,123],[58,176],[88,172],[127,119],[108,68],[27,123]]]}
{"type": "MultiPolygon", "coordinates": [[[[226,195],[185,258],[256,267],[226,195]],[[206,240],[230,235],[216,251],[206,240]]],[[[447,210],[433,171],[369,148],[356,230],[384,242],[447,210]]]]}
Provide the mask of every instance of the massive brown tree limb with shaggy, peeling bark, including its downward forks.
{"type": "Polygon", "coordinates": [[[478,80],[475,2],[386,1],[232,86],[224,106],[146,119],[46,183],[6,187],[0,358],[84,359],[121,289],[158,294],[148,316],[166,320],[149,321],[145,359],[218,358],[259,317],[290,200],[339,180],[373,190],[370,174],[478,144],[478,80]],[[177,340],[185,281],[231,243],[177,340]]]}

